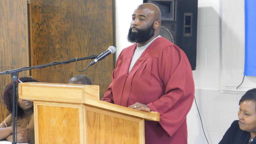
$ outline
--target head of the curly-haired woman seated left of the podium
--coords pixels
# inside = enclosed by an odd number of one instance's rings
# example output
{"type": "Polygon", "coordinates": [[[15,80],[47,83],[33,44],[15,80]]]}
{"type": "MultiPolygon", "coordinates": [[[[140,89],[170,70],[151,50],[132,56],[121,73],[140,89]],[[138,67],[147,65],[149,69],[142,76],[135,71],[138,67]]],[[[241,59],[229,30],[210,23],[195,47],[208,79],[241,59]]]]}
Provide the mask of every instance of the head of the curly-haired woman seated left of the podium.
{"type": "MultiPolygon", "coordinates": [[[[20,77],[18,78],[22,82],[38,82],[37,80],[31,77],[20,77]]],[[[16,80],[15,84],[18,85],[19,81],[16,80]]],[[[18,97],[18,96],[17,96],[18,97]]],[[[4,89],[3,92],[3,101],[6,105],[6,108],[11,113],[12,112],[12,82],[10,82],[4,89]]],[[[33,102],[25,99],[17,98],[17,116],[22,116],[24,111],[33,109],[33,102]]]]}

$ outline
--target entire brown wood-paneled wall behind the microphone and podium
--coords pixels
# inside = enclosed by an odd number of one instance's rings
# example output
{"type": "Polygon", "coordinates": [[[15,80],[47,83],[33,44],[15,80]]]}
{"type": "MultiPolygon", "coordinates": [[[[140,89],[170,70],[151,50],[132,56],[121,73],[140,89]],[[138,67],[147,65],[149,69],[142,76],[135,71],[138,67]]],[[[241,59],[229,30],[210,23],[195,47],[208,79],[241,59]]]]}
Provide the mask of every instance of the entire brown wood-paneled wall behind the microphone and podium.
{"type": "MultiPolygon", "coordinates": [[[[114,0],[30,0],[27,13],[27,0],[0,0],[0,71],[105,51],[114,45],[113,5],[114,0]]],[[[78,61],[78,69],[91,60],[78,61]]],[[[72,76],[84,74],[100,86],[102,97],[111,81],[113,63],[109,55],[84,72],[76,71],[72,62],[33,69],[30,74],[20,72],[19,77],[67,83],[72,76]]],[[[8,114],[2,93],[9,82],[10,75],[0,75],[0,121],[8,114]]]]}

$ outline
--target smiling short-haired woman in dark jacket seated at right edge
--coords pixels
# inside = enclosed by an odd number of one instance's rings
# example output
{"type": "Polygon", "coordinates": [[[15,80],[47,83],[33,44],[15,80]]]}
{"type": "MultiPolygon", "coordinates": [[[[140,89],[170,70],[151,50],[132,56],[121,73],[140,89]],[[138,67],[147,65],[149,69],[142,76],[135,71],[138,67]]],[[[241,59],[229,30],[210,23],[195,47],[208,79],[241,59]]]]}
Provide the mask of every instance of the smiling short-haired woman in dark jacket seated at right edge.
{"type": "Polygon", "coordinates": [[[238,119],[226,130],[219,144],[256,143],[256,88],[250,89],[239,100],[238,119]]]}

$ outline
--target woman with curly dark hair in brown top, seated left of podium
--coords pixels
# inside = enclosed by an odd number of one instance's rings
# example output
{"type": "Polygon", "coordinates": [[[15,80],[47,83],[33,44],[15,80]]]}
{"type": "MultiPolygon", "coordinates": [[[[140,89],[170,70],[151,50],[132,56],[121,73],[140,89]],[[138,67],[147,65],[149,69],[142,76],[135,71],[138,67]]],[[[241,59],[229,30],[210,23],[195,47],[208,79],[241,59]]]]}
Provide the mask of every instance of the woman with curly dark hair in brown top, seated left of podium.
{"type": "MultiPolygon", "coordinates": [[[[38,82],[31,77],[20,77],[22,82],[38,82]]],[[[16,81],[18,85],[19,81],[16,81]]],[[[3,100],[6,108],[12,112],[12,82],[4,89],[3,100]]],[[[33,102],[17,98],[17,141],[18,143],[34,143],[33,102]]],[[[12,114],[8,115],[0,124],[0,140],[12,141],[12,114]]]]}

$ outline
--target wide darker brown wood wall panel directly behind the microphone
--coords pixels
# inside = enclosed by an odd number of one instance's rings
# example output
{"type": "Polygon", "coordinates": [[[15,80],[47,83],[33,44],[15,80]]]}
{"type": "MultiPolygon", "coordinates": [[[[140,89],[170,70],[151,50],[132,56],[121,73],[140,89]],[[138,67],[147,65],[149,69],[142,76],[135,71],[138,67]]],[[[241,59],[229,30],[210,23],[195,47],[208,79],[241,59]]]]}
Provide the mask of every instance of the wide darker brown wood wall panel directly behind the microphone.
{"type": "MultiPolygon", "coordinates": [[[[112,0],[31,0],[31,65],[85,57],[105,51],[113,45],[112,0]]],[[[78,61],[83,69],[91,59],[78,61]]],[[[113,55],[84,72],[75,64],[62,64],[31,70],[42,82],[67,83],[77,74],[87,75],[100,85],[100,96],[111,81],[113,55]]]]}

